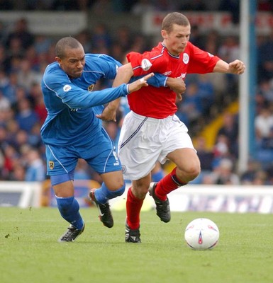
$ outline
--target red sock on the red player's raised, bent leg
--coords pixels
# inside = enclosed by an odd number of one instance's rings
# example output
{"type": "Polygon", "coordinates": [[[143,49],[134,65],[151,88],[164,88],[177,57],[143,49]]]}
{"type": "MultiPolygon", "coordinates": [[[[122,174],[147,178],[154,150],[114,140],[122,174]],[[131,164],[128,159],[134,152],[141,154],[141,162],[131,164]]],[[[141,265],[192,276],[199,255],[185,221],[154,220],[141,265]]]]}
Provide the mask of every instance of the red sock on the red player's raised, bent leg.
{"type": "Polygon", "coordinates": [[[160,182],[157,183],[155,187],[155,195],[160,200],[167,200],[167,194],[176,190],[177,187],[181,187],[182,185],[186,185],[186,183],[179,180],[176,175],[177,168],[175,167],[171,173],[166,175],[160,182]]]}

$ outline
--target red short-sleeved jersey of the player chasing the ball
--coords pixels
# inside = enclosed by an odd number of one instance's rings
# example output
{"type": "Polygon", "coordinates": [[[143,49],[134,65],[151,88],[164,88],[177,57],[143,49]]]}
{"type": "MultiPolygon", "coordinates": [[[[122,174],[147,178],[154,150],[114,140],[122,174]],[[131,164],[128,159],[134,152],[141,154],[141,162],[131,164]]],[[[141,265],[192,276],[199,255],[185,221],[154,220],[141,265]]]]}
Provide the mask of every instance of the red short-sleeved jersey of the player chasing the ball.
{"type": "MultiPolygon", "coordinates": [[[[150,52],[128,53],[127,59],[132,64],[134,76],[154,72],[172,78],[184,79],[186,74],[211,73],[220,58],[200,50],[191,42],[188,42],[182,54],[174,56],[160,42],[150,52]],[[141,67],[143,59],[148,59],[152,63],[152,67],[148,71],[144,71],[141,67]]],[[[167,87],[147,86],[130,93],[127,97],[130,110],[139,115],[162,119],[177,112],[176,94],[167,87]]]]}

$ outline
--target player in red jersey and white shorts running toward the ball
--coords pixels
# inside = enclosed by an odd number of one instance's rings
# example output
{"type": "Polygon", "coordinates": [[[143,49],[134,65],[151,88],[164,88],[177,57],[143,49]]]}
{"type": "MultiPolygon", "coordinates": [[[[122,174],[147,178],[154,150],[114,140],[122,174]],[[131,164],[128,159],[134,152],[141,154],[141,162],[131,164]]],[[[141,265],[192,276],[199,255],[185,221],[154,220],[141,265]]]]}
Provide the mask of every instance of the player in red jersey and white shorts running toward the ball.
{"type": "MultiPolygon", "coordinates": [[[[150,52],[127,54],[128,64],[118,69],[113,86],[128,82],[131,76],[150,72],[182,80],[192,73],[243,74],[243,62],[236,59],[228,64],[200,50],[189,42],[190,34],[191,25],[186,16],[177,12],[167,14],[162,21],[163,41],[150,52]]],[[[188,129],[175,115],[179,95],[181,98],[181,93],[170,88],[153,86],[128,95],[131,111],[124,119],[118,142],[123,176],[132,180],[126,201],[126,242],[141,243],[140,209],[147,192],[155,200],[157,216],[168,222],[171,214],[167,195],[194,180],[201,171],[188,129]],[[156,161],[165,163],[167,159],[176,167],[160,182],[150,183],[156,161]]],[[[110,103],[104,115],[113,115],[117,105],[117,101],[110,103]]]]}

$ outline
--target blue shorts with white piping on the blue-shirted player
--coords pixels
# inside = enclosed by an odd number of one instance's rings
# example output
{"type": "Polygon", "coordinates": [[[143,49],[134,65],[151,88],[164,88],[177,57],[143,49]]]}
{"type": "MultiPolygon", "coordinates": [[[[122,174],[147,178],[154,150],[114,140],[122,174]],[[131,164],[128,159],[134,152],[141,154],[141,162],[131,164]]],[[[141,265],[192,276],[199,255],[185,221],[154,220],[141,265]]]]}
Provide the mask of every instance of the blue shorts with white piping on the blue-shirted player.
{"type": "Polygon", "coordinates": [[[87,161],[89,166],[99,174],[113,171],[121,171],[119,161],[113,141],[110,139],[105,129],[102,128],[96,134],[95,143],[81,146],[52,146],[45,145],[47,158],[47,174],[64,175],[74,172],[79,158],[87,161]]]}

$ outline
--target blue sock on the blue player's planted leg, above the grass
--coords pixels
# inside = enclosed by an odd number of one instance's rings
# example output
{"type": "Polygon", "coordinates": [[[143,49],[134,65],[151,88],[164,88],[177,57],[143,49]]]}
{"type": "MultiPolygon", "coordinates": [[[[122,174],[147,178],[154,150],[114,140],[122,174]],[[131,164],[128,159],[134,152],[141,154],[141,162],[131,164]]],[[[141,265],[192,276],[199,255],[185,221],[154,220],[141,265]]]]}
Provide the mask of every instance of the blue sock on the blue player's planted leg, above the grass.
{"type": "Polygon", "coordinates": [[[77,229],[82,229],[84,221],[79,214],[79,203],[74,197],[56,197],[57,207],[66,221],[77,229]]]}

